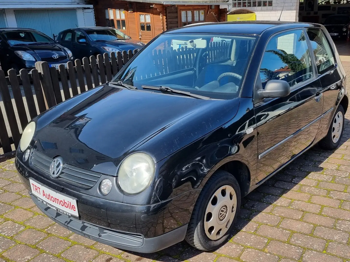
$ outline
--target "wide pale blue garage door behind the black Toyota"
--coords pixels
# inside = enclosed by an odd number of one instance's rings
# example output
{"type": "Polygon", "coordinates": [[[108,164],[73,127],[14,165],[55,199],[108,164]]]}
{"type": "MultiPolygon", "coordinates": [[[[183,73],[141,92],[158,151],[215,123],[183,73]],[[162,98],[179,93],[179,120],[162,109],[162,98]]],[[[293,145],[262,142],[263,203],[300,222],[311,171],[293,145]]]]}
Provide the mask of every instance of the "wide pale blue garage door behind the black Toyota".
{"type": "Polygon", "coordinates": [[[76,9],[26,9],[15,10],[17,26],[33,28],[52,38],[60,31],[78,27],[76,9]]]}

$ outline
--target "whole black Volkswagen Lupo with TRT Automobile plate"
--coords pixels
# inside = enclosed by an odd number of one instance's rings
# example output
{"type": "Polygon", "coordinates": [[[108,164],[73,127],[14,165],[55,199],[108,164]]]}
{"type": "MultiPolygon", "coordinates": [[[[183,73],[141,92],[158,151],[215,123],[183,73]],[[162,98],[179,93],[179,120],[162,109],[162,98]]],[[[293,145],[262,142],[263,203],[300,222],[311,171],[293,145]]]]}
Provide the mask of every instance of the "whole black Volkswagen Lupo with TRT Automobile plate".
{"type": "Polygon", "coordinates": [[[323,26],[199,24],[163,32],[111,82],[34,118],[15,163],[42,212],[77,234],[145,253],[183,239],[212,250],[242,196],[316,143],[339,145],[347,108],[323,26]]]}

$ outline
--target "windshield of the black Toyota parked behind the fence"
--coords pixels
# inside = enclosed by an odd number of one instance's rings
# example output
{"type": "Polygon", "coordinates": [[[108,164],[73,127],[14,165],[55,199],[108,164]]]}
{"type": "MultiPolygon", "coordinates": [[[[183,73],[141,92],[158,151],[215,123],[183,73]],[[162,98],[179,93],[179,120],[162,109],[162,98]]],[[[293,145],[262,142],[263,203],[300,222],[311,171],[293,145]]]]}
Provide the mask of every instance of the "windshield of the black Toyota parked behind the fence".
{"type": "Polygon", "coordinates": [[[35,31],[5,31],[7,42],[10,45],[31,44],[31,43],[54,43],[47,35],[35,31]]]}

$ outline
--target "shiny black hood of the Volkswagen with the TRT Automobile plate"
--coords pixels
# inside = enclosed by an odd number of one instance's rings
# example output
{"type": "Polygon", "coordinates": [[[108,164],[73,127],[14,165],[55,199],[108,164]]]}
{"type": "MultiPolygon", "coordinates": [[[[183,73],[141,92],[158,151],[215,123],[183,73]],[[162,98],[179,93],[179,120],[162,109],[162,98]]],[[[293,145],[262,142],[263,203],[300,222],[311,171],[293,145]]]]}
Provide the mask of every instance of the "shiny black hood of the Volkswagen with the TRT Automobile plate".
{"type": "Polygon", "coordinates": [[[114,175],[143,147],[156,162],[232,119],[239,99],[201,100],[108,85],[73,97],[35,118],[31,145],[51,158],[114,175]]]}

